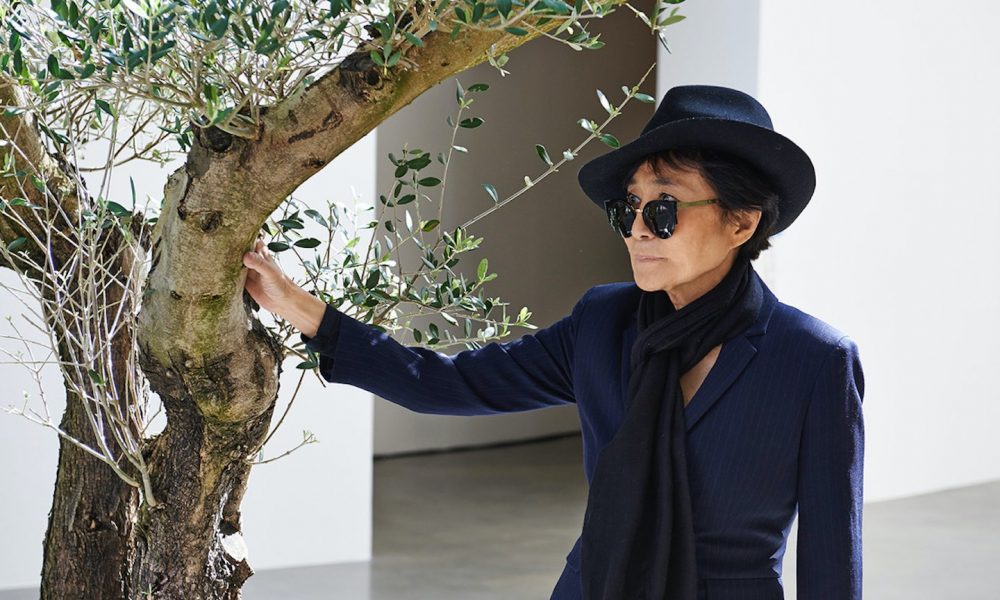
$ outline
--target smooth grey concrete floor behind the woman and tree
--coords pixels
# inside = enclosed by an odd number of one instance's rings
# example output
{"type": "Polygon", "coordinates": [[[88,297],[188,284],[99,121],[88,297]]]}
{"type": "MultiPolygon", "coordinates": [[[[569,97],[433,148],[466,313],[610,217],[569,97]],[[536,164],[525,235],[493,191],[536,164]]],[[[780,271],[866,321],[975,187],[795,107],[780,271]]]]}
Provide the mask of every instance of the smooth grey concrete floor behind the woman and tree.
{"type": "MultiPolygon", "coordinates": [[[[244,598],[545,600],[583,522],[580,453],[573,436],[378,460],[373,560],[260,571],[244,598]]],[[[864,520],[865,597],[1000,598],[1000,481],[868,503],[864,520]]],[[[788,600],[795,600],[792,531],[788,600]]],[[[0,600],[37,597],[0,592],[0,600]]]]}

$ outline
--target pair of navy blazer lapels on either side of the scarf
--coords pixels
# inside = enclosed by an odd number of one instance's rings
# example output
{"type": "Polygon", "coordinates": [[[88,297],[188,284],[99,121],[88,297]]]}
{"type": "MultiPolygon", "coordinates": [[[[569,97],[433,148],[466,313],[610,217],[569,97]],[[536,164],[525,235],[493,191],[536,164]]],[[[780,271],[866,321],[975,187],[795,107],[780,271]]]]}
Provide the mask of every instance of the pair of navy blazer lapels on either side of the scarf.
{"type": "MultiPolygon", "coordinates": [[[[756,271],[755,277],[759,277],[756,271]]],[[[719,358],[709,370],[705,381],[695,392],[694,397],[684,407],[685,430],[691,431],[696,423],[708,412],[712,406],[718,402],[723,393],[733,384],[741,373],[750,364],[750,359],[757,353],[757,346],[752,338],[767,331],[767,323],[771,319],[771,313],[777,304],[778,299],[771,290],[761,281],[764,290],[764,301],[760,308],[757,320],[750,325],[740,335],[727,340],[722,344],[719,358]]],[[[632,317],[625,328],[622,336],[622,399],[625,407],[628,406],[628,380],[631,374],[630,355],[632,343],[638,333],[638,322],[635,310],[632,310],[632,317]]]]}

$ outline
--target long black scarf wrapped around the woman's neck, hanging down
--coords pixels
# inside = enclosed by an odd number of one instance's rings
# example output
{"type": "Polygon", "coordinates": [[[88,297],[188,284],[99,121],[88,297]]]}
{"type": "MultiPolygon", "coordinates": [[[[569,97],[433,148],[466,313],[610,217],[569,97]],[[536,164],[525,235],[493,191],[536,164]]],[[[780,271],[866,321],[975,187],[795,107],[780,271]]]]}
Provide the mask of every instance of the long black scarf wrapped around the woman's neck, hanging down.
{"type": "Polygon", "coordinates": [[[738,258],[714,288],[674,308],[643,292],[628,405],[597,459],[581,540],[585,600],[695,600],[694,523],[680,375],[751,325],[763,291],[738,258]]]}

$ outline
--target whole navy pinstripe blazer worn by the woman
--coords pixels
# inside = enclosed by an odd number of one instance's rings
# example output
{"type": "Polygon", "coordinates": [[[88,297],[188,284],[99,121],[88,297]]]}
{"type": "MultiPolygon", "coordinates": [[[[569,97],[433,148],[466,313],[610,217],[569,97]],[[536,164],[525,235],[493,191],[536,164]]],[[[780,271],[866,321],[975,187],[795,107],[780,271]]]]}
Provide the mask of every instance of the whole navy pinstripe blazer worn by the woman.
{"type": "MultiPolygon", "coordinates": [[[[858,348],[763,289],[757,321],[722,345],[684,409],[699,598],[781,600],[782,557],[798,514],[799,600],[859,600],[858,348]]],[[[327,381],[421,413],[479,415],[575,402],[589,482],[624,415],[640,294],[631,282],[597,285],[547,328],[451,355],[404,346],[332,306],[316,336],[301,339],[319,353],[327,381]]],[[[551,600],[580,599],[579,553],[577,539],[551,600]]]]}

